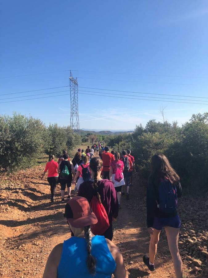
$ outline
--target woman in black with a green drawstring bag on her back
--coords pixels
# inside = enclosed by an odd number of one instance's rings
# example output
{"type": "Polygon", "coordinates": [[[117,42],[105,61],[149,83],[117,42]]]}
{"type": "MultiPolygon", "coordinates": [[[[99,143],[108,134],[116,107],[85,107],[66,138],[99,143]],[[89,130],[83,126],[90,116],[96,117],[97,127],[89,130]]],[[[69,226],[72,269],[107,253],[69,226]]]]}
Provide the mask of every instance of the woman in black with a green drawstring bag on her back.
{"type": "Polygon", "coordinates": [[[67,186],[67,199],[71,199],[71,181],[72,173],[75,176],[74,166],[71,161],[68,160],[68,154],[63,155],[63,160],[59,162],[59,183],[61,185],[61,202],[64,203],[65,188],[67,186]],[[71,173],[72,172],[72,173],[71,173]]]}

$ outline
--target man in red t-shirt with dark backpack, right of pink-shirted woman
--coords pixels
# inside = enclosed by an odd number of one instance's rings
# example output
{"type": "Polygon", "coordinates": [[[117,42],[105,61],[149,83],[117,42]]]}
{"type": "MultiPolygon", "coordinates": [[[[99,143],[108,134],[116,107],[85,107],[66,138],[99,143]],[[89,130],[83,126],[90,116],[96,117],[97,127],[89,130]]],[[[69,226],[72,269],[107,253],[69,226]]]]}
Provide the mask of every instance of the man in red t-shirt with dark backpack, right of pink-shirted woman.
{"type": "MultiPolygon", "coordinates": [[[[120,158],[121,161],[124,162],[124,180],[126,184],[126,200],[129,200],[129,186],[130,186],[130,179],[133,171],[133,162],[129,156],[127,156],[126,151],[122,151],[122,158],[120,158]],[[127,163],[128,162],[128,163],[127,163]],[[127,169],[127,167],[129,167],[127,169]],[[125,169],[126,168],[126,169],[125,169]]],[[[125,195],[124,191],[121,192],[121,195],[125,195]]]]}

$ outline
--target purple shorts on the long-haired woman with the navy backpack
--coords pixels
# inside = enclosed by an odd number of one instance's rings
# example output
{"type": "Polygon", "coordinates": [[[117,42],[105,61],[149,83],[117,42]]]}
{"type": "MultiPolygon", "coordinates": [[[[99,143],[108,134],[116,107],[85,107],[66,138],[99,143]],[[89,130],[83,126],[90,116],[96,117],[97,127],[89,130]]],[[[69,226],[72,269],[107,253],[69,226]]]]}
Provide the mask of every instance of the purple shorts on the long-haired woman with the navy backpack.
{"type": "Polygon", "coordinates": [[[162,230],[163,227],[169,226],[173,228],[181,227],[181,220],[178,215],[174,217],[159,218],[154,217],[153,228],[156,230],[162,230]]]}

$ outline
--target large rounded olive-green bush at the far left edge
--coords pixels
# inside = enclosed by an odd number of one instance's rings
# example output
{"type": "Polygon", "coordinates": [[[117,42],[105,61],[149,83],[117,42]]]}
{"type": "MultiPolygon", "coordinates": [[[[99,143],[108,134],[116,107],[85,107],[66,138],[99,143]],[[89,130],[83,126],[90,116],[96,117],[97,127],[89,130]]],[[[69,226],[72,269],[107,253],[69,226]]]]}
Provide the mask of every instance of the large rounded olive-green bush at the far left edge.
{"type": "Polygon", "coordinates": [[[43,153],[45,131],[31,116],[0,116],[0,166],[11,172],[33,165],[43,153]]]}

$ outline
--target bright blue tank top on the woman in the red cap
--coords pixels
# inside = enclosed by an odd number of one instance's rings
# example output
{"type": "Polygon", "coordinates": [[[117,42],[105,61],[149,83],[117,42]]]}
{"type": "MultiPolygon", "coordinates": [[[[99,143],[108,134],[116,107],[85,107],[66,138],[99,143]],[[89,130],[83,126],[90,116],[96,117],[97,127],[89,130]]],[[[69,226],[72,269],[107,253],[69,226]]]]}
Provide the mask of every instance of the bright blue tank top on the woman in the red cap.
{"type": "Polygon", "coordinates": [[[116,262],[104,236],[96,235],[92,238],[91,254],[96,258],[95,276],[90,274],[87,267],[88,252],[85,238],[71,237],[65,240],[58,266],[58,278],[111,278],[116,269],[116,262]]]}

